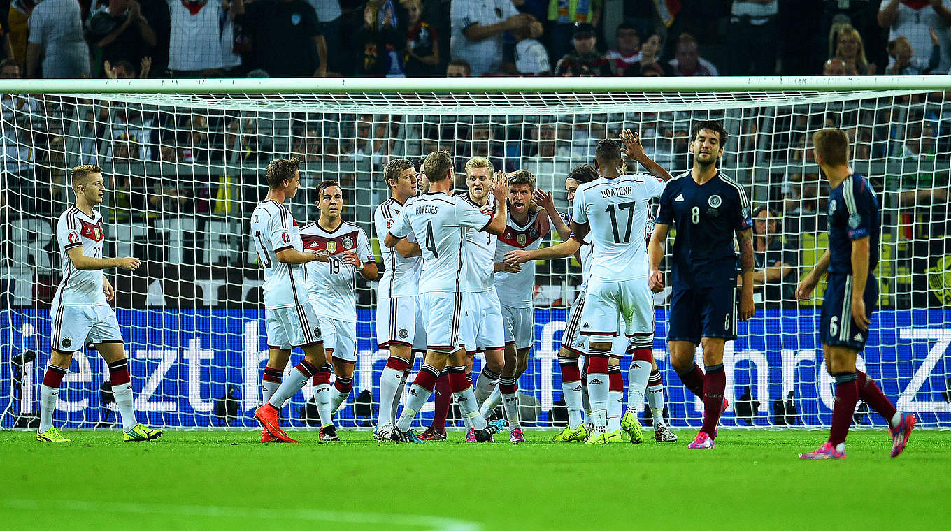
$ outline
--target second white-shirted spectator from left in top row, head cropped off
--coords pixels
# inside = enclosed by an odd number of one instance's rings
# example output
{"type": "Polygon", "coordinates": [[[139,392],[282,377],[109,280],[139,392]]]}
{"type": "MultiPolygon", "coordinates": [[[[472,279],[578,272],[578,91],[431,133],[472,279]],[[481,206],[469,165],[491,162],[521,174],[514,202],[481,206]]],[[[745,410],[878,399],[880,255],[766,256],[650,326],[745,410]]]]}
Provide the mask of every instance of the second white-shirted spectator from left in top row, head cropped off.
{"type": "Polygon", "coordinates": [[[241,64],[233,53],[234,20],[242,16],[244,0],[168,0],[168,8],[168,69],[173,77],[215,77],[241,64]]]}

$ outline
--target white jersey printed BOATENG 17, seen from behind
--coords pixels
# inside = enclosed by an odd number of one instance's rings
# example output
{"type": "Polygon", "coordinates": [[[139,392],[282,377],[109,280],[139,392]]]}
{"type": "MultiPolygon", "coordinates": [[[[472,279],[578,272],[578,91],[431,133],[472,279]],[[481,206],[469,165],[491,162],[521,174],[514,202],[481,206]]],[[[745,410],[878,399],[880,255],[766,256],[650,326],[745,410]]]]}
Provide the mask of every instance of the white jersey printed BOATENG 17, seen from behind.
{"type": "Polygon", "coordinates": [[[591,276],[619,281],[648,275],[644,230],[650,199],[666,183],[646,174],[600,178],[578,187],[572,218],[591,227],[591,276]]]}

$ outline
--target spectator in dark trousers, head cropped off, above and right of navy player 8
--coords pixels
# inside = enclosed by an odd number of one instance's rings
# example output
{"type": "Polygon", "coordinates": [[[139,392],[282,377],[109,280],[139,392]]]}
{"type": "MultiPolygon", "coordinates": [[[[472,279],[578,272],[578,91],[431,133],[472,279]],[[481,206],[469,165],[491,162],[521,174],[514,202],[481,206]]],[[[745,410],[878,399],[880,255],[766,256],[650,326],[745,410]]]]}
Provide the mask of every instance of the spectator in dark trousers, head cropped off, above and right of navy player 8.
{"type": "Polygon", "coordinates": [[[734,0],[730,11],[729,75],[768,76],[776,73],[777,0],[734,0]]]}

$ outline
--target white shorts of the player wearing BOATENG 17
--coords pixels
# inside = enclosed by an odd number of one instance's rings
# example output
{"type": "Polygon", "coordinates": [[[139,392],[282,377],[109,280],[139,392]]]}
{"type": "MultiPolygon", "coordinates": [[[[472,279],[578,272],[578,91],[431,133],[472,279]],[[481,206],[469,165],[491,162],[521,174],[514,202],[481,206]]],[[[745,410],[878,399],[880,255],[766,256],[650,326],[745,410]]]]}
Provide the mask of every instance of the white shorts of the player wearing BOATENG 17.
{"type": "Polygon", "coordinates": [[[653,333],[653,294],[648,279],[590,278],[580,333],[596,337],[595,340],[610,341],[620,332],[620,321],[624,322],[624,334],[628,337],[653,333]]]}

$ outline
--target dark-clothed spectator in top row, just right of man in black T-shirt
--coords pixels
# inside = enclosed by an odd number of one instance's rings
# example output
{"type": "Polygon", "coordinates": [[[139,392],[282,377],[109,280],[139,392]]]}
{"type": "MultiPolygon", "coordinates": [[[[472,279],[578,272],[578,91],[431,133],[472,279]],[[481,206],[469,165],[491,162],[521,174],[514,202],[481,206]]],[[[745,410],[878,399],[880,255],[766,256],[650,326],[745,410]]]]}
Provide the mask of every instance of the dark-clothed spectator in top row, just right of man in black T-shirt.
{"type": "Polygon", "coordinates": [[[406,29],[398,20],[392,2],[380,7],[367,2],[363,8],[363,25],[357,31],[359,54],[357,74],[369,77],[405,77],[403,54],[406,47],[406,29]]]}

